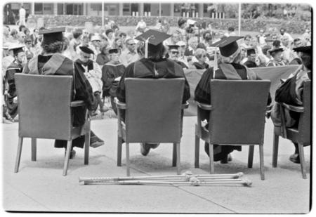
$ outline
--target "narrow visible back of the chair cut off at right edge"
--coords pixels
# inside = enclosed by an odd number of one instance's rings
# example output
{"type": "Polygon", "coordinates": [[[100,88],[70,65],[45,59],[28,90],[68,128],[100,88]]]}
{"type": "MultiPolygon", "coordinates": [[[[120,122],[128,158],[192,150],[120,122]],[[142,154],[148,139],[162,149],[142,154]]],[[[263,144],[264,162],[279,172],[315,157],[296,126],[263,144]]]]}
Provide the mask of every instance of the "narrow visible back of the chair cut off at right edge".
{"type": "Polygon", "coordinates": [[[298,140],[303,145],[310,145],[310,81],[303,82],[303,107],[304,112],[301,114],[298,123],[298,140]]]}

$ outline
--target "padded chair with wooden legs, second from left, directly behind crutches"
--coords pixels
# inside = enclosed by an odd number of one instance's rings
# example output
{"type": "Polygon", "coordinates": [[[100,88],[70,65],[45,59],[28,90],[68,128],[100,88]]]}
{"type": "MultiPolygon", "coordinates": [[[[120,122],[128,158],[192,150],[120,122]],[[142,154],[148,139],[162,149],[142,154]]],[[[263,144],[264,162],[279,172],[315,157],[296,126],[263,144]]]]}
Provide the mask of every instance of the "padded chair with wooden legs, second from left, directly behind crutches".
{"type": "Polygon", "coordinates": [[[180,139],[185,79],[125,79],[126,104],[118,109],[117,166],[126,143],[126,173],[130,176],[129,143],[173,143],[172,166],[180,173],[180,139]],[[125,110],[125,122],[124,113],[125,110]]]}

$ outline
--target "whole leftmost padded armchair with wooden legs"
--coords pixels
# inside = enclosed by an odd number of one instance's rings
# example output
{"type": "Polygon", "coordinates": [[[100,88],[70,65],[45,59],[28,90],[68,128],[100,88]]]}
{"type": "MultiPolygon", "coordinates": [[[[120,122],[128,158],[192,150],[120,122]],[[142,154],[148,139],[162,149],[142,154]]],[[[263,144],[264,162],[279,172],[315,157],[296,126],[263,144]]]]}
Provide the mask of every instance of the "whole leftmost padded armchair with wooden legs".
{"type": "Polygon", "coordinates": [[[15,84],[19,111],[15,173],[19,169],[23,138],[32,138],[32,161],[37,160],[37,138],[68,140],[62,173],[66,176],[72,140],[86,135],[84,164],[88,164],[90,119],[87,112],[84,126],[72,126],[72,107],[84,106],[84,101],[72,101],[72,76],[19,73],[15,74],[15,84]]]}

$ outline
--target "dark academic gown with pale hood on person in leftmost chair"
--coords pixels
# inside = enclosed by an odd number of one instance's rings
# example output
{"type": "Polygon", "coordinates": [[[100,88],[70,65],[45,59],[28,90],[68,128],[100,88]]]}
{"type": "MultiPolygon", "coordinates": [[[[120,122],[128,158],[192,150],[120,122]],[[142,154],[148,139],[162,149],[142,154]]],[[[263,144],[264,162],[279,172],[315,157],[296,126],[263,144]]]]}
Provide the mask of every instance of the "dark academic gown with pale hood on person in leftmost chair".
{"type": "MultiPolygon", "coordinates": [[[[60,53],[53,55],[38,55],[29,61],[23,73],[45,75],[71,75],[74,76],[74,100],[84,100],[84,107],[72,108],[73,126],[82,126],[85,123],[86,110],[96,110],[98,102],[93,96],[91,85],[78,69],[77,65],[60,53]]],[[[91,131],[91,135],[93,132],[91,131]]],[[[84,147],[84,136],[72,140],[72,146],[84,147]]],[[[56,140],[55,147],[67,147],[66,140],[56,140]]]]}

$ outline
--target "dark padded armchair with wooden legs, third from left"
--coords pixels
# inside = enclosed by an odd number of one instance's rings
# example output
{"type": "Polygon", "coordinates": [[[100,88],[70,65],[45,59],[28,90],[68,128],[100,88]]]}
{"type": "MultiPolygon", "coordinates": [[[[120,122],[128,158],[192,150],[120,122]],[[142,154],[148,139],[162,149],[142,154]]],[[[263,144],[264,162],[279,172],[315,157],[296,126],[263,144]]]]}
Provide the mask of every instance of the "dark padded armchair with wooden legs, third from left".
{"type": "Polygon", "coordinates": [[[252,167],[254,145],[260,149],[261,180],[264,180],[263,138],[270,81],[211,80],[211,105],[197,103],[195,168],[199,168],[199,140],[209,143],[210,173],[214,173],[213,144],[249,145],[252,167]],[[209,129],[202,127],[201,112],[209,110],[209,129]]]}

